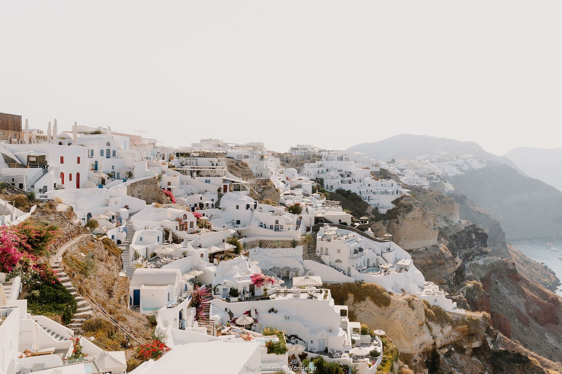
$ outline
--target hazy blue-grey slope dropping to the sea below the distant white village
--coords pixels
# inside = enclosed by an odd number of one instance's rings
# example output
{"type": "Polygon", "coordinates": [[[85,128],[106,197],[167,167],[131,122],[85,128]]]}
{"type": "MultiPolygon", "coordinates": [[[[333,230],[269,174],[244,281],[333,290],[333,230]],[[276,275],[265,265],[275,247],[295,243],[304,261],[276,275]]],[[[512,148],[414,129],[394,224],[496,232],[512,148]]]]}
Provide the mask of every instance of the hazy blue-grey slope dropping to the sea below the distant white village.
{"type": "Polygon", "coordinates": [[[508,242],[562,237],[562,191],[545,182],[497,163],[448,181],[501,222],[508,242]]]}

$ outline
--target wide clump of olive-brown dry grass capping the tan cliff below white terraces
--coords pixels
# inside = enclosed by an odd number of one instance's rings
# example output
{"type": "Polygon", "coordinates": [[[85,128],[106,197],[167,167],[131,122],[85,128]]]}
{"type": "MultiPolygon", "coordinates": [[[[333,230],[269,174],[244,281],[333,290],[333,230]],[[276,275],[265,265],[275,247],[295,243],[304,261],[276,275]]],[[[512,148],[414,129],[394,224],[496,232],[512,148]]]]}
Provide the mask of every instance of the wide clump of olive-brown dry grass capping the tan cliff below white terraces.
{"type": "Polygon", "coordinates": [[[374,283],[324,284],[324,287],[330,289],[332,297],[338,304],[347,305],[349,295],[353,295],[353,302],[362,302],[369,298],[379,308],[387,308],[391,302],[388,292],[374,283]]]}

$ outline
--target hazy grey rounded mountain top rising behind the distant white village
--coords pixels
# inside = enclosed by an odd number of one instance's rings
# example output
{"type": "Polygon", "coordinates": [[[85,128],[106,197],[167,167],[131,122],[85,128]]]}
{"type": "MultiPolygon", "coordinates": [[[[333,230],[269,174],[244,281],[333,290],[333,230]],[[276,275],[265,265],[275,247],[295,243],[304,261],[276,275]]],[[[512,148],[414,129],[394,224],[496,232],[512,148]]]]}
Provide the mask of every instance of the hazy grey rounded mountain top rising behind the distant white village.
{"type": "Polygon", "coordinates": [[[373,143],[357,144],[350,147],[348,151],[365,153],[379,161],[398,157],[413,160],[420,156],[472,154],[478,159],[497,161],[516,168],[510,159],[488,153],[473,141],[458,141],[427,135],[400,134],[373,143]]]}

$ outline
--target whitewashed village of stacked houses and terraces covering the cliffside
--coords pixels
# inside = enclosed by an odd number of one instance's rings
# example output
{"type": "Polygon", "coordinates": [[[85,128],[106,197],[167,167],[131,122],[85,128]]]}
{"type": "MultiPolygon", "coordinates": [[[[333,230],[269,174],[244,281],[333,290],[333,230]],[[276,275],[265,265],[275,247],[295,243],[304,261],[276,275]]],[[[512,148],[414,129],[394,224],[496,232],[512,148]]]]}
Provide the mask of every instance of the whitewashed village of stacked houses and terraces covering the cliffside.
{"type": "MultiPolygon", "coordinates": [[[[376,237],[367,218],[321,192],[355,192],[385,213],[409,191],[383,179],[380,167],[419,186],[435,178],[430,170],[311,145],[277,153],[261,142],[209,138],[174,149],[116,130],[53,119],[44,131],[0,114],[0,182],[72,207],[81,225],[96,221],[92,234],[123,250],[129,308],[155,317],[171,348],[132,373],[299,373],[308,370],[302,357],[319,355],[375,373],[384,331],[361,333],[361,321],[334,302],[329,283],[374,283],[465,314],[425,281],[392,235],[376,237]],[[298,171],[282,166],[310,155],[318,158],[298,171]],[[233,163],[253,176],[235,176],[233,163]],[[252,183],[274,188],[278,201],[256,200],[252,183]],[[166,200],[156,201],[162,193],[166,200]]],[[[0,200],[0,224],[19,224],[34,208],[0,200]]],[[[0,273],[0,284],[0,374],[126,371],[123,351],[79,335],[81,321],[96,311],[65,326],[28,312],[20,277],[7,281],[0,273]],[[76,340],[88,359],[67,359],[76,340]]]]}

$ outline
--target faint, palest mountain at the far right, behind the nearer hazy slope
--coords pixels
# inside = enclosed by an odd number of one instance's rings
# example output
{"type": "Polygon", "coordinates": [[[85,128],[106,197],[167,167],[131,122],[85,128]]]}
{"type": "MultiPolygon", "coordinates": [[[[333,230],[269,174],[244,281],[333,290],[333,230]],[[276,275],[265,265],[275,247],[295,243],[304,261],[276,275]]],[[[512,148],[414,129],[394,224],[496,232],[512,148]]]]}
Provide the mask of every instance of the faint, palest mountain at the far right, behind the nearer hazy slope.
{"type": "Polygon", "coordinates": [[[504,155],[529,177],[541,179],[562,191],[562,148],[515,148],[504,155]]]}

